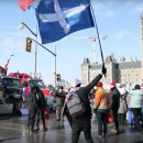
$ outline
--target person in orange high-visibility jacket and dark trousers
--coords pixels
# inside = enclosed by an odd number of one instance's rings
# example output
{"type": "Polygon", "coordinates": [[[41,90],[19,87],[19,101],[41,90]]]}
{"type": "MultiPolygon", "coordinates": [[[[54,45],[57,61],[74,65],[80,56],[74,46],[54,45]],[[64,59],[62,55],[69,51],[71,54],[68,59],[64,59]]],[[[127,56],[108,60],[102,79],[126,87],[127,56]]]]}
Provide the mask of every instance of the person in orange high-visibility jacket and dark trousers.
{"type": "Polygon", "coordinates": [[[97,91],[95,94],[94,112],[97,114],[98,121],[98,136],[106,139],[108,133],[107,113],[109,108],[108,92],[103,89],[102,82],[97,84],[97,91]]]}

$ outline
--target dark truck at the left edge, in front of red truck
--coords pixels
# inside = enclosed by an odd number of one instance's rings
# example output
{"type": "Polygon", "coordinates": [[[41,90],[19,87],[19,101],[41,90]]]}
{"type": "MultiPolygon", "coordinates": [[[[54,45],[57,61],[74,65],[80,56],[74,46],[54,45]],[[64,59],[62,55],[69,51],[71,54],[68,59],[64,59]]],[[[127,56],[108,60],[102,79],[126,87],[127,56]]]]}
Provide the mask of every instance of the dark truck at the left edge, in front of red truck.
{"type": "Polygon", "coordinates": [[[20,78],[0,76],[0,114],[16,113],[22,106],[20,78]]]}

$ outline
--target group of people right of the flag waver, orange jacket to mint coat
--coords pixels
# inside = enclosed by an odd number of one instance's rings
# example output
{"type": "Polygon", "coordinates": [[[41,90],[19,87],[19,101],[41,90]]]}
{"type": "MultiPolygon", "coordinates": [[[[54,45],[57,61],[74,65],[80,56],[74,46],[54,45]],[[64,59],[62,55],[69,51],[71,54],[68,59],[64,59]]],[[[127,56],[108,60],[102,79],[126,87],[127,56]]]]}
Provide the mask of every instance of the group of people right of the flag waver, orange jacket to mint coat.
{"type": "Polygon", "coordinates": [[[94,95],[99,139],[108,136],[109,114],[112,114],[114,121],[114,128],[111,129],[113,134],[119,134],[120,128],[127,124],[134,128],[136,133],[143,134],[143,90],[140,85],[133,86],[129,82],[122,88],[117,88],[116,82],[111,82],[110,90],[106,90],[102,82],[98,82],[94,95]]]}

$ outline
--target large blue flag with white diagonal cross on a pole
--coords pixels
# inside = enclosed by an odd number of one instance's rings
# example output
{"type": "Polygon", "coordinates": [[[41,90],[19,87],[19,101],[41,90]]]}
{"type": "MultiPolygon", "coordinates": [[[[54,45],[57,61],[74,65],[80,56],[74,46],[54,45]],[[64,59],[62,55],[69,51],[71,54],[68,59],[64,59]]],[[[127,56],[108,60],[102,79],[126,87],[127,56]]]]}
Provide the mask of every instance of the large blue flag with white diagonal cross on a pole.
{"type": "Polygon", "coordinates": [[[41,0],[35,11],[42,44],[95,26],[90,0],[41,0]]]}

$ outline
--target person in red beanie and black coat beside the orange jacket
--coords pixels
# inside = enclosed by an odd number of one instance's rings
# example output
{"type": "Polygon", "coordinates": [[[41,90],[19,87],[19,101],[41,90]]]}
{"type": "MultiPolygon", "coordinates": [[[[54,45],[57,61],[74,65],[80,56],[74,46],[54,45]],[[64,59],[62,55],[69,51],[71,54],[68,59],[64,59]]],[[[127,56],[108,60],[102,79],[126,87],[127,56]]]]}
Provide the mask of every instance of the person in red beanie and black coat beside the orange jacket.
{"type": "Polygon", "coordinates": [[[114,129],[112,129],[111,131],[113,133],[117,133],[119,134],[119,122],[118,122],[118,110],[119,110],[119,107],[120,107],[120,92],[116,86],[116,82],[111,82],[110,84],[110,94],[109,94],[109,97],[110,97],[110,109],[112,111],[112,116],[113,116],[113,119],[114,119],[114,129]]]}

